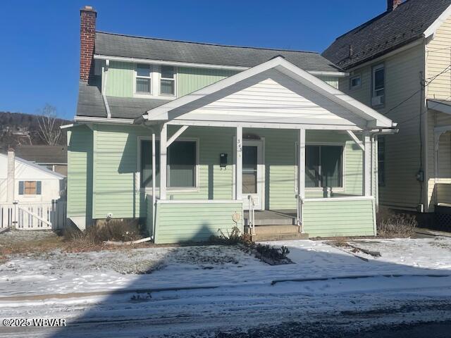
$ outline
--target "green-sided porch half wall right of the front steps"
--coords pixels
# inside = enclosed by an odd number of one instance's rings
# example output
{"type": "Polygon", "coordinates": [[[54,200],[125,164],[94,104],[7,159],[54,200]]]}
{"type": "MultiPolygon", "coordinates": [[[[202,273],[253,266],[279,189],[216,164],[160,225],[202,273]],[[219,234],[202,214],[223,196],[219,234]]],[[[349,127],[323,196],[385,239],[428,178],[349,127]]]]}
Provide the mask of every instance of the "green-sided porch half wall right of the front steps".
{"type": "Polygon", "coordinates": [[[304,231],[310,237],[373,236],[374,208],[373,199],[306,201],[304,231]]]}

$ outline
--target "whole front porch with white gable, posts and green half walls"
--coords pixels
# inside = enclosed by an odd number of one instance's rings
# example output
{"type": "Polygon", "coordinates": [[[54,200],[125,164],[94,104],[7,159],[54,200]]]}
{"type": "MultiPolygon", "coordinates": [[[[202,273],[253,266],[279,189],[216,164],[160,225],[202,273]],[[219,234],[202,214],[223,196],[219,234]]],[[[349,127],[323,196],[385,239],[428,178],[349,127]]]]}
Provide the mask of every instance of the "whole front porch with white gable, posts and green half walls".
{"type": "Polygon", "coordinates": [[[144,181],[154,241],[234,227],[255,239],[376,234],[374,135],[393,124],[343,95],[278,58],[137,119],[153,129],[144,181]],[[190,146],[176,154],[177,142],[190,146]]]}

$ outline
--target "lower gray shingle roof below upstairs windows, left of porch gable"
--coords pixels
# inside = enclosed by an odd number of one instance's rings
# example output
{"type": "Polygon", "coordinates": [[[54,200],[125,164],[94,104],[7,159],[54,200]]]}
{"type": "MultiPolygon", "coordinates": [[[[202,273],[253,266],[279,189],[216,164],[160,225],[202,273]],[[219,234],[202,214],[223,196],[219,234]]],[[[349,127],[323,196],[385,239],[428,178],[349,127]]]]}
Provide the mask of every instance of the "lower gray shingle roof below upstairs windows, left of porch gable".
{"type": "MultiPolygon", "coordinates": [[[[166,104],[169,100],[137,99],[129,97],[106,96],[111,118],[137,118],[152,108],[166,104]]],[[[99,87],[81,82],[78,89],[77,116],[106,118],[104,99],[99,87]]]]}

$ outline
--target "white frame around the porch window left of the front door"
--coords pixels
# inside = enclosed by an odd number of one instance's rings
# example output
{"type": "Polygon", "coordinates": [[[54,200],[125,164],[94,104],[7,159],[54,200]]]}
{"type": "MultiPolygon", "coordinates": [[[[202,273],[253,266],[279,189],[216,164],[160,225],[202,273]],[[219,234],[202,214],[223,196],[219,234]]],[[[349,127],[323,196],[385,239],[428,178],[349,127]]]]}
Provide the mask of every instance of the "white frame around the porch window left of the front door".
{"type": "MultiPolygon", "coordinates": [[[[155,137],[155,141],[159,141],[160,137],[155,137]]],[[[151,141],[152,137],[149,136],[138,136],[137,137],[137,170],[136,170],[136,189],[140,192],[144,192],[145,194],[152,194],[152,187],[141,187],[141,142],[142,141],[151,141]]],[[[200,149],[200,142],[198,137],[178,137],[174,142],[178,141],[190,141],[190,142],[196,142],[196,164],[194,168],[194,187],[167,187],[166,183],[166,190],[170,193],[176,193],[176,192],[199,192],[199,149],[200,149]]],[[[152,156],[152,154],[150,154],[152,156]]],[[[169,165],[169,161],[167,163],[169,165]]],[[[167,171],[169,175],[169,170],[167,171]]],[[[159,194],[160,187],[155,187],[156,193],[159,194]]]]}

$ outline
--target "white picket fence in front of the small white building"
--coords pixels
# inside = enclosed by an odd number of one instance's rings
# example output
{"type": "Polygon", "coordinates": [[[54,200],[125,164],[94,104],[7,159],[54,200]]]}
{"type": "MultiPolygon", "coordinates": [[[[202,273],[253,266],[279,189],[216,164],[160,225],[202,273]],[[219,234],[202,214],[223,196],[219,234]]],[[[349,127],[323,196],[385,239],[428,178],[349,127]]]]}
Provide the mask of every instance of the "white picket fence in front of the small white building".
{"type": "Polygon", "coordinates": [[[58,230],[66,227],[66,201],[48,203],[0,202],[0,229],[58,230]]]}

